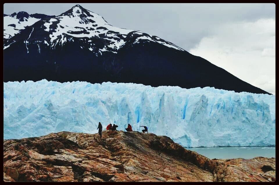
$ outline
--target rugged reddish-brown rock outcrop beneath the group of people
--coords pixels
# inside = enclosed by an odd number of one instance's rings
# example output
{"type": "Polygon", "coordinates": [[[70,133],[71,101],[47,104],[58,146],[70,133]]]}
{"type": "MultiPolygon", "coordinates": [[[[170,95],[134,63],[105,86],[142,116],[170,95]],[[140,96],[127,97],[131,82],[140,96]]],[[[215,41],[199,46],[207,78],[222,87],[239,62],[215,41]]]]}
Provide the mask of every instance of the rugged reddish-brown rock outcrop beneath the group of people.
{"type": "Polygon", "coordinates": [[[4,181],[275,181],[274,158],[210,160],[166,136],[102,135],[58,132],[4,140],[4,181]]]}

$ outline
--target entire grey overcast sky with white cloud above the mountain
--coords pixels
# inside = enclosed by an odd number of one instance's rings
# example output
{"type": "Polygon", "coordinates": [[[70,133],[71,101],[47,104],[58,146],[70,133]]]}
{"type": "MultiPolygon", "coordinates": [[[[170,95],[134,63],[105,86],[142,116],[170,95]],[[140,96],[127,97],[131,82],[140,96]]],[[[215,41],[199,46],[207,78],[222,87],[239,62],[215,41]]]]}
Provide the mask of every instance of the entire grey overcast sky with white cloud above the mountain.
{"type": "MultiPolygon", "coordinates": [[[[5,3],[4,13],[59,15],[76,4],[5,3]]],[[[275,4],[79,4],[113,26],[161,37],[275,94],[275,4]]]]}

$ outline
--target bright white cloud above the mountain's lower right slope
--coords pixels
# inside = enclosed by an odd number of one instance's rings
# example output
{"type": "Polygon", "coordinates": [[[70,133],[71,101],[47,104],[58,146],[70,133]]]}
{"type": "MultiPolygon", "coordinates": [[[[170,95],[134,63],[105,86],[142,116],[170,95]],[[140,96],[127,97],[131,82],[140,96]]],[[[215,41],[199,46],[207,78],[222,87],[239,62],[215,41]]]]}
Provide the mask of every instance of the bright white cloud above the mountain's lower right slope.
{"type": "Polygon", "coordinates": [[[212,33],[189,52],[275,94],[275,19],[227,23],[212,33]]]}

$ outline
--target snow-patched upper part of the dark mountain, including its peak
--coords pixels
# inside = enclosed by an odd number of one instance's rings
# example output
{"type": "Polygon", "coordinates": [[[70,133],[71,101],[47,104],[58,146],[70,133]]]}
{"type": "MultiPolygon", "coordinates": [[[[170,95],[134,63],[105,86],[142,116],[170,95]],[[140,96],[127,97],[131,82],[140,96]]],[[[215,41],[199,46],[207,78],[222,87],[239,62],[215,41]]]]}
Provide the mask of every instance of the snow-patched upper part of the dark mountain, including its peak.
{"type": "MultiPolygon", "coordinates": [[[[35,17],[30,17],[26,12],[19,12],[17,14],[12,14],[10,16],[5,16],[5,25],[4,28],[4,38],[10,38],[13,35],[19,33],[19,30],[23,29],[24,26],[30,26],[35,22],[41,20],[35,17]],[[7,17],[7,18],[6,18],[7,17]],[[14,27],[14,31],[9,30],[8,23],[13,21],[12,27],[14,27]],[[11,33],[11,34],[9,34],[11,33]]],[[[44,17],[45,18],[45,17],[44,17]]],[[[135,39],[135,43],[139,43],[139,40],[148,40],[151,42],[157,42],[168,46],[170,48],[175,48],[180,51],[184,51],[183,49],[179,48],[178,46],[164,41],[159,37],[151,37],[148,34],[145,34],[141,31],[135,30],[128,30],[124,28],[117,28],[108,24],[103,17],[100,15],[91,12],[89,10],[84,9],[80,5],[76,5],[70,10],[58,15],[56,17],[50,17],[48,19],[42,19],[39,23],[40,28],[44,28],[44,31],[47,31],[49,34],[49,38],[46,38],[42,44],[46,44],[51,49],[55,49],[57,45],[61,47],[64,46],[67,42],[74,42],[74,38],[85,41],[87,43],[87,47],[81,46],[83,49],[88,49],[90,51],[95,50],[96,55],[102,55],[104,51],[110,51],[113,53],[117,53],[117,50],[124,45],[130,39],[128,37],[137,36],[135,39]],[[101,39],[103,44],[101,47],[96,48],[96,43],[94,42],[94,38],[101,39]],[[93,39],[93,41],[92,41],[93,39]]],[[[34,28],[34,27],[33,27],[34,28]]],[[[35,29],[35,28],[34,28],[35,29]]],[[[32,29],[31,34],[33,33],[34,29],[32,29]]],[[[30,38],[30,37],[28,37],[30,38]]],[[[29,43],[26,39],[26,51],[28,51],[29,43]]],[[[36,40],[38,42],[38,40],[36,40]]],[[[4,49],[8,48],[10,44],[14,42],[10,41],[4,44],[4,49]]],[[[40,47],[38,45],[38,47],[40,47]]]]}

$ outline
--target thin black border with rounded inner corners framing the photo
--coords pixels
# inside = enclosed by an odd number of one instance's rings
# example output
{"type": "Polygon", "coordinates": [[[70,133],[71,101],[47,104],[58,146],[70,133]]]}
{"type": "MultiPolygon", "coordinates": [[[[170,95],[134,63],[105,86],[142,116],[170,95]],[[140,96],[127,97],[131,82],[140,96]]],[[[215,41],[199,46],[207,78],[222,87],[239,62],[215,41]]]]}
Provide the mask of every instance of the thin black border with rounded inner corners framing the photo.
{"type": "MultiPolygon", "coordinates": [[[[279,6],[279,1],[278,0],[94,0],[94,1],[90,1],[90,0],[79,0],[79,1],[75,1],[75,0],[67,0],[67,1],[62,1],[62,0],[40,0],[40,2],[36,1],[36,0],[1,0],[0,2],[0,12],[1,14],[3,15],[3,8],[4,8],[4,3],[274,3],[276,5],[276,16],[275,18],[278,19],[279,16],[278,16],[278,6],[279,6]]],[[[3,35],[3,17],[1,17],[0,19],[0,25],[1,25],[1,35],[3,35]]],[[[279,54],[279,49],[278,49],[278,21],[276,22],[276,45],[275,45],[275,48],[277,48],[276,50],[276,55],[278,56],[279,54]]],[[[3,44],[3,40],[2,40],[2,44],[3,44]]],[[[1,52],[1,64],[0,65],[0,68],[1,68],[1,71],[2,71],[2,75],[1,75],[1,82],[3,82],[3,52],[1,52]]],[[[277,73],[278,73],[278,57],[276,58],[276,91],[278,91],[278,80],[279,78],[277,73]]],[[[3,138],[3,85],[4,83],[1,84],[1,90],[0,90],[0,93],[1,93],[1,97],[0,98],[0,104],[1,104],[1,114],[0,114],[0,131],[1,131],[1,138],[3,138]]],[[[275,101],[276,101],[276,108],[277,108],[277,103],[278,103],[278,97],[275,98],[275,101]]],[[[278,115],[278,112],[279,111],[276,111],[276,116],[278,115]]],[[[279,132],[276,132],[276,141],[278,141],[278,134],[279,132]]],[[[1,146],[3,146],[3,139],[1,139],[1,146]]],[[[3,162],[3,148],[1,147],[0,148],[1,150],[1,159],[2,159],[2,162],[3,162]]],[[[278,147],[276,148],[276,154],[278,154],[277,152],[278,150],[278,147]]],[[[277,156],[277,155],[276,155],[277,156]]],[[[278,162],[276,161],[276,166],[277,166],[278,162]]],[[[1,171],[1,179],[0,179],[0,183],[1,184],[36,184],[36,182],[4,182],[3,181],[3,168],[1,167],[0,168],[1,171]]],[[[276,173],[276,179],[278,178],[278,173],[276,173]]],[[[51,183],[54,183],[54,182],[42,182],[44,184],[51,184],[51,183]]],[[[69,184],[69,183],[82,183],[82,182],[56,182],[58,184],[69,184]]],[[[83,182],[84,184],[86,184],[86,182],[83,182]]],[[[99,184],[101,182],[95,182],[94,184],[99,184]]],[[[105,183],[109,183],[109,182],[105,182],[105,183]]],[[[126,182],[127,184],[137,184],[137,183],[143,183],[143,182],[126,182]]],[[[144,182],[144,183],[148,183],[148,184],[155,184],[156,182],[144,182]]],[[[189,182],[180,182],[180,183],[189,183],[189,182]]],[[[191,183],[196,183],[196,184],[200,184],[202,182],[191,182],[191,183]]],[[[214,182],[205,182],[205,183],[214,183],[214,182]]],[[[221,184],[236,184],[236,183],[240,183],[240,182],[220,182],[221,184]]],[[[262,182],[262,183],[271,183],[271,182],[262,182]]],[[[261,184],[262,184],[261,183],[261,184]]],[[[276,183],[273,182],[273,184],[276,183]]],[[[90,183],[91,184],[91,183],[90,183]]],[[[102,183],[103,184],[103,183],[102,183]]],[[[156,183],[158,184],[158,183],[156,183]]],[[[249,184],[253,184],[252,182],[249,183],[249,184]]]]}

